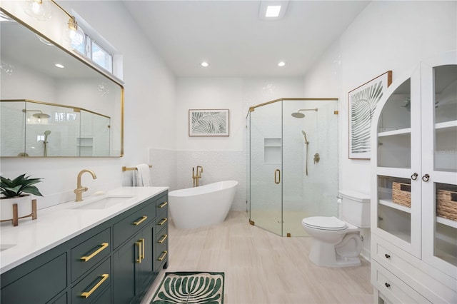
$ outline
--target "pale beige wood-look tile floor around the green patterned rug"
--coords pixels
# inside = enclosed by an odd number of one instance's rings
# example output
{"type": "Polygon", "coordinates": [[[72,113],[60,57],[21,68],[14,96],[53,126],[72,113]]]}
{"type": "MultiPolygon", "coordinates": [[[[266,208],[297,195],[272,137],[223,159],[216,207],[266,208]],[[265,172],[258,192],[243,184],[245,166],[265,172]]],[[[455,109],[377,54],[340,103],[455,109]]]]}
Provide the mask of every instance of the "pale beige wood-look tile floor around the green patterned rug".
{"type": "Polygon", "coordinates": [[[165,271],[225,273],[224,303],[372,303],[370,263],[322,268],[308,260],[310,238],[283,238],[231,211],[216,226],[169,226],[169,268],[162,270],[142,304],[149,303],[165,271]]]}

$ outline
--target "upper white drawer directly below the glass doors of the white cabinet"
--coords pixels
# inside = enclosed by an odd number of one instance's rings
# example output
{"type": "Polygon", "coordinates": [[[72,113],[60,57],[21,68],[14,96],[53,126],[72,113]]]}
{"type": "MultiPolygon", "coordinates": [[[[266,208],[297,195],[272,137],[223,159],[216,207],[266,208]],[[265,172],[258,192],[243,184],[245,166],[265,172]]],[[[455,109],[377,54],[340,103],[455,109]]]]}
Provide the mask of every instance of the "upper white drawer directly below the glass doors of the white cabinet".
{"type": "Polygon", "coordinates": [[[373,260],[433,303],[456,303],[457,282],[413,255],[373,235],[373,260]]]}

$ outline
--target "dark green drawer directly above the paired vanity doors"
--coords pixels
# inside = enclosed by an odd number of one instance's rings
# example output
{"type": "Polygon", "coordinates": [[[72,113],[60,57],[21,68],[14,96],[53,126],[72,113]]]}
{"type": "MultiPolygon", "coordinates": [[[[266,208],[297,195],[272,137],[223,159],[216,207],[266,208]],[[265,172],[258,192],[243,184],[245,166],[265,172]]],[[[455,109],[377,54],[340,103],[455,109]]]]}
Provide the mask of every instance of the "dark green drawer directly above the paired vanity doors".
{"type": "Polygon", "coordinates": [[[156,216],[156,206],[153,202],[149,202],[147,206],[139,211],[126,216],[121,221],[113,226],[113,243],[114,248],[124,243],[139,230],[144,228],[156,216]]]}

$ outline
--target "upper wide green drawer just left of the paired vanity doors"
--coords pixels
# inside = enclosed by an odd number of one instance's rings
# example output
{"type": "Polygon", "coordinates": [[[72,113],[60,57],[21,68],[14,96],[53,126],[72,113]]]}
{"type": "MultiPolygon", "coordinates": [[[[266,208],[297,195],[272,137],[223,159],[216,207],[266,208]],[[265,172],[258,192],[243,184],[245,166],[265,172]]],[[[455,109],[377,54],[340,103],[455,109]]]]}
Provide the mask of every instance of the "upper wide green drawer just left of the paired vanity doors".
{"type": "Polygon", "coordinates": [[[86,273],[111,253],[111,233],[106,228],[99,234],[71,248],[71,282],[86,273]]]}

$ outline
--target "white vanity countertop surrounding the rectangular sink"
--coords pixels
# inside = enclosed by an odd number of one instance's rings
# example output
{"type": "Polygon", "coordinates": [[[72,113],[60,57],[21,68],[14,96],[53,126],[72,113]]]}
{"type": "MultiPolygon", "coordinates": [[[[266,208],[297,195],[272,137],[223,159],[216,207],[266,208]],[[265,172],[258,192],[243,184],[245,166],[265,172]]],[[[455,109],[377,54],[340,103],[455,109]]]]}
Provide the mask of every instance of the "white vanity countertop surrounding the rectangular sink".
{"type": "Polygon", "coordinates": [[[41,209],[37,212],[36,220],[20,219],[19,226],[16,227],[12,225],[11,221],[1,223],[0,273],[5,273],[166,190],[168,187],[116,188],[108,191],[103,197],[126,196],[126,201],[116,203],[109,208],[74,209],[102,197],[89,196],[78,203],[71,201],[41,209]],[[8,248],[10,245],[12,246],[8,248]]]}

